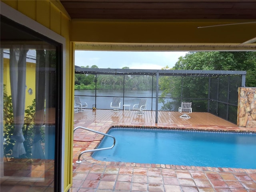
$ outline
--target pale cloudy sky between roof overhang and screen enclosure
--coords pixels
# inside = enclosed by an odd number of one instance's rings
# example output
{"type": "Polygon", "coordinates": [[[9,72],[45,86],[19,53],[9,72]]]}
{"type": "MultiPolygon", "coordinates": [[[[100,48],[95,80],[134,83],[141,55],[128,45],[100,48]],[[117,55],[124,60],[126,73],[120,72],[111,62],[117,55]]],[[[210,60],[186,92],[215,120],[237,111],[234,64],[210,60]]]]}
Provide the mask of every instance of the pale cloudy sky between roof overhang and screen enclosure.
{"type": "Polygon", "coordinates": [[[180,56],[188,52],[124,52],[124,51],[76,51],[76,66],[98,68],[161,69],[172,68],[180,56]]]}

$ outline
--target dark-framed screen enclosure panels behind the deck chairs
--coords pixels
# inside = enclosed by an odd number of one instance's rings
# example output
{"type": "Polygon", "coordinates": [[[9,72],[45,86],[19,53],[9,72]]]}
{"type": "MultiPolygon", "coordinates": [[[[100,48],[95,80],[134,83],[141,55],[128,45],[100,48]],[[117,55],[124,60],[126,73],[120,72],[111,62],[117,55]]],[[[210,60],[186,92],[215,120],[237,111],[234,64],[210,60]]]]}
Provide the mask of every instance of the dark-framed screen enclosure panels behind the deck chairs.
{"type": "Polygon", "coordinates": [[[181,102],[192,102],[193,112],[210,112],[236,124],[238,87],[245,86],[246,71],[135,70],[75,68],[84,84],[75,96],[88,108],[110,109],[113,96],[124,104],[147,99],[146,110],[178,111],[181,102]],[[91,82],[91,83],[90,83],[91,82]],[[88,83],[88,84],[86,84],[88,83]],[[90,83],[90,84],[89,84],[90,83]]]}

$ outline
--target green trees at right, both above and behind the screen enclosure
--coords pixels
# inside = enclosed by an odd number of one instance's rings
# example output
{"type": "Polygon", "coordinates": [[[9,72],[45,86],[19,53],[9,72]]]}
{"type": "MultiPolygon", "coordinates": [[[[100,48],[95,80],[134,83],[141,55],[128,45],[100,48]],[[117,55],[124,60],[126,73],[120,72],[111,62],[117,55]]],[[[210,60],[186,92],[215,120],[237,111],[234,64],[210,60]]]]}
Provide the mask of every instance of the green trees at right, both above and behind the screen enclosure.
{"type": "MultiPolygon", "coordinates": [[[[168,66],[163,69],[170,69],[168,66]]],[[[189,52],[180,57],[173,70],[239,70],[246,71],[246,86],[256,86],[256,52],[189,52]]],[[[173,77],[164,76],[159,79],[162,110],[176,110],[182,101],[192,101],[193,110],[206,111],[210,92],[210,110],[214,114],[226,111],[229,105],[229,120],[236,121],[237,89],[241,86],[241,76],[208,77],[173,77]],[[210,89],[210,90],[209,90],[210,89]],[[173,100],[164,98],[171,94],[173,100]],[[221,104],[216,104],[216,101],[221,104]],[[234,105],[232,105],[234,104],[234,105]]],[[[220,113],[219,113],[220,114],[220,113]]],[[[224,113],[226,116],[226,113],[224,113]]]]}

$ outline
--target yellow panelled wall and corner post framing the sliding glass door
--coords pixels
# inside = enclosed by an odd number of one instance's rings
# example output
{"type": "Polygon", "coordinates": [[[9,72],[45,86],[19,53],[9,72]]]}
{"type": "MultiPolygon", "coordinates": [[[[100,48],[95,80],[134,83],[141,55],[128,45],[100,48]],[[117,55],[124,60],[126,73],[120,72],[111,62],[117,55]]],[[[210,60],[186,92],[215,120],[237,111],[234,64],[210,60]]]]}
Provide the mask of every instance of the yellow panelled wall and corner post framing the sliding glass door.
{"type": "MultiPolygon", "coordinates": [[[[65,105],[65,151],[64,151],[64,191],[72,184],[72,144],[74,105],[74,66],[70,62],[70,18],[58,1],[49,0],[1,0],[36,22],[66,38],[66,103],[65,105]]],[[[71,57],[73,58],[73,57],[71,57]]]]}

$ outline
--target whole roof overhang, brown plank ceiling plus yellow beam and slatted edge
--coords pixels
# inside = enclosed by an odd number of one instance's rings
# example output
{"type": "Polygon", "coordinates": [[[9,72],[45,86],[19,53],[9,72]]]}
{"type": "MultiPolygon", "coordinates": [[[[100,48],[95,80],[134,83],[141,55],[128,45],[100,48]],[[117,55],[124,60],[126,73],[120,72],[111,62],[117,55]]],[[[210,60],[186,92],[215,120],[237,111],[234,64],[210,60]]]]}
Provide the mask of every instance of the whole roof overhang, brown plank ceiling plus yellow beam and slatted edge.
{"type": "Polygon", "coordinates": [[[255,0],[60,0],[76,50],[255,51],[255,0]]]}

